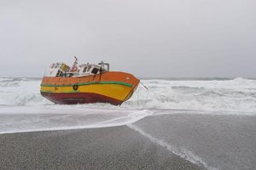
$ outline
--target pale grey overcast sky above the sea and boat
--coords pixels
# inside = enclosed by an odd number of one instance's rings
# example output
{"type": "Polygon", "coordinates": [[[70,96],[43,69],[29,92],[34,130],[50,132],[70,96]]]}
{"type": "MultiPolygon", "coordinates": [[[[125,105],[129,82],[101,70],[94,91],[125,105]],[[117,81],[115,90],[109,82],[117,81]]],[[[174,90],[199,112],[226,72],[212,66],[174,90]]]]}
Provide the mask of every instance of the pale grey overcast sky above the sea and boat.
{"type": "Polygon", "coordinates": [[[137,77],[256,77],[256,1],[0,0],[0,77],[73,55],[137,77]]]}

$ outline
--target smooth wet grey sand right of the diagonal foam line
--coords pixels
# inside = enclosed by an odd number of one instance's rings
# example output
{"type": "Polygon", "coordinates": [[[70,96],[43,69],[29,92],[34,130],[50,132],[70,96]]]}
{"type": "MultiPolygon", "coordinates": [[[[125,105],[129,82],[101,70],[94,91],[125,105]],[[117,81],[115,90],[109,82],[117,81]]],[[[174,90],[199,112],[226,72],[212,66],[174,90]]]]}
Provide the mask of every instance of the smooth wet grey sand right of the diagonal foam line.
{"type": "Polygon", "coordinates": [[[156,144],[190,161],[199,161],[208,169],[255,169],[256,116],[218,114],[148,116],[131,127],[156,144]]]}

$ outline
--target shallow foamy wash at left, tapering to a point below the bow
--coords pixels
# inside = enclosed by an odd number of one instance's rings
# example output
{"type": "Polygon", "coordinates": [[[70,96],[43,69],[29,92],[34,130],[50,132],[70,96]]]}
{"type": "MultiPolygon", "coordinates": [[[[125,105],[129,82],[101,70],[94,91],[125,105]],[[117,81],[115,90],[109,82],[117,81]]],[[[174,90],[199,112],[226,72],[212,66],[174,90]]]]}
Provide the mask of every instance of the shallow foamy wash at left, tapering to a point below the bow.
{"type": "Polygon", "coordinates": [[[0,110],[0,133],[116,127],[152,115],[152,111],[83,109],[74,107],[15,106],[0,110]],[[50,109],[49,109],[50,108],[50,109]]]}

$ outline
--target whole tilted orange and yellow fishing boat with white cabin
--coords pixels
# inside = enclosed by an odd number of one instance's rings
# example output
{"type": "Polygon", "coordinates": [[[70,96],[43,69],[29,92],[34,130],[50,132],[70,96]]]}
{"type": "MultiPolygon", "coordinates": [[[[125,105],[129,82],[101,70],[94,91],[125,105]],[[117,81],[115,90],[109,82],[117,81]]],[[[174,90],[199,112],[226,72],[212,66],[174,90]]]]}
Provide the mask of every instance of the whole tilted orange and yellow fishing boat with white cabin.
{"type": "Polygon", "coordinates": [[[45,71],[41,95],[55,104],[109,103],[121,105],[130,99],[140,82],[137,77],[121,71],[109,71],[109,64],[73,66],[53,63],[45,71]]]}

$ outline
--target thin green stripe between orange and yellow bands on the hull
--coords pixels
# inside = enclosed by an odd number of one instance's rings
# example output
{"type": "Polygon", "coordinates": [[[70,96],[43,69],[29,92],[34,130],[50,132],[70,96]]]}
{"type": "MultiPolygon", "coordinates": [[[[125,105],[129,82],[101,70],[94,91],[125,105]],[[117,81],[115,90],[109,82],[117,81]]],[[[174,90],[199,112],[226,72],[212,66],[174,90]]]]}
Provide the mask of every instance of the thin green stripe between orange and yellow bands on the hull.
{"type": "MultiPolygon", "coordinates": [[[[79,82],[76,83],[77,85],[90,85],[90,84],[119,84],[119,85],[124,85],[128,87],[132,87],[131,84],[126,83],[126,82],[79,82]]],[[[71,87],[74,84],[61,84],[61,85],[56,85],[56,84],[41,84],[43,87],[71,87]]]]}

